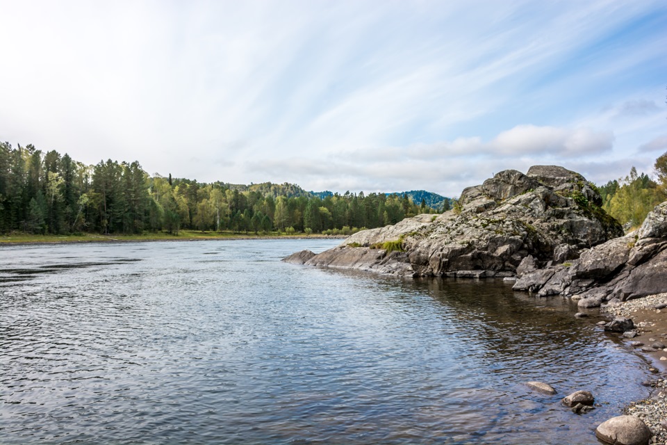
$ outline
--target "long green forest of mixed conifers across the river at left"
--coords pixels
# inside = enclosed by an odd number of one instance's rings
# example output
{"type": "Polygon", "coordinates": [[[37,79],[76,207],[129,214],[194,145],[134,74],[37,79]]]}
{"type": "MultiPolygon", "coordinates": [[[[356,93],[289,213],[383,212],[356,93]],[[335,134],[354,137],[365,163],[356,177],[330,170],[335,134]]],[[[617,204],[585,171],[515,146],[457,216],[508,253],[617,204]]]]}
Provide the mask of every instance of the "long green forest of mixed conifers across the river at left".
{"type": "Polygon", "coordinates": [[[181,229],[350,234],[436,213],[407,195],[320,198],[294,184],[199,183],[138,162],[85,165],[55,150],[0,143],[0,233],[140,234],[181,229]]]}

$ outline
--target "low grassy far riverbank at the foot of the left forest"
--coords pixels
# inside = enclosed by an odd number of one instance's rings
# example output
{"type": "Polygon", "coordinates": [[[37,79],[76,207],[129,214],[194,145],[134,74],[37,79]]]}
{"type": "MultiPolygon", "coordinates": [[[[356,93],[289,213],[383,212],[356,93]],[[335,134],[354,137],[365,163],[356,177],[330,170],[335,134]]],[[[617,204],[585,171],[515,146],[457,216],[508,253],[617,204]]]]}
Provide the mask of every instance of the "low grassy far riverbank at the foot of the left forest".
{"type": "Polygon", "coordinates": [[[2,245],[39,245],[62,243],[137,243],[148,241],[211,241],[211,240],[244,240],[244,239],[343,239],[347,235],[322,234],[238,234],[233,232],[199,232],[195,230],[181,230],[178,235],[166,232],[146,233],[141,235],[33,235],[10,234],[0,235],[2,245]]]}

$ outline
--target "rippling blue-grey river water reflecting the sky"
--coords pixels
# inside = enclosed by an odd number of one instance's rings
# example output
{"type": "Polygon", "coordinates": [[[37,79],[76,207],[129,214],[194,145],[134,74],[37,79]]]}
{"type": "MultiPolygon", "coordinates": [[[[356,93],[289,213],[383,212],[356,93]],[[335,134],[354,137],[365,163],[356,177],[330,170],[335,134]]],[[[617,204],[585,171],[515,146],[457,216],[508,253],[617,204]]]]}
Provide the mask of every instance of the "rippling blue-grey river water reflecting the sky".
{"type": "Polygon", "coordinates": [[[567,300],[279,261],[336,243],[0,248],[0,443],[592,444],[648,394],[567,300]]]}

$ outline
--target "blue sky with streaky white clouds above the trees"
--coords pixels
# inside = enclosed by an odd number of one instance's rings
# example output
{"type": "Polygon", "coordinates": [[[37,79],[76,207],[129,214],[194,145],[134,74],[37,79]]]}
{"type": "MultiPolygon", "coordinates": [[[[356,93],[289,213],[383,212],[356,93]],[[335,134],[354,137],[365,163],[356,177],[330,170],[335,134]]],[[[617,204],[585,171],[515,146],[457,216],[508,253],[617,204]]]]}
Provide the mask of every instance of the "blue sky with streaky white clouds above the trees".
{"type": "Polygon", "coordinates": [[[87,164],[457,196],[667,152],[664,0],[0,0],[0,140],[87,164]]]}

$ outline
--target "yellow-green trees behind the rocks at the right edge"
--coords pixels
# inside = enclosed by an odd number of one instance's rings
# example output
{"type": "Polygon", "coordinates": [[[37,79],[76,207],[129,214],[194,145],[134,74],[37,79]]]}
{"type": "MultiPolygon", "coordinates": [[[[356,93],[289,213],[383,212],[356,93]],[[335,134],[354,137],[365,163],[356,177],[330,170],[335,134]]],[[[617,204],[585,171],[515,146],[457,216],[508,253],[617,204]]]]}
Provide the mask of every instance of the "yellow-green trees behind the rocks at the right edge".
{"type": "Polygon", "coordinates": [[[667,152],[654,163],[655,179],[632,167],[629,175],[599,187],[602,208],[626,229],[639,227],[648,212],[667,200],[667,152]]]}

